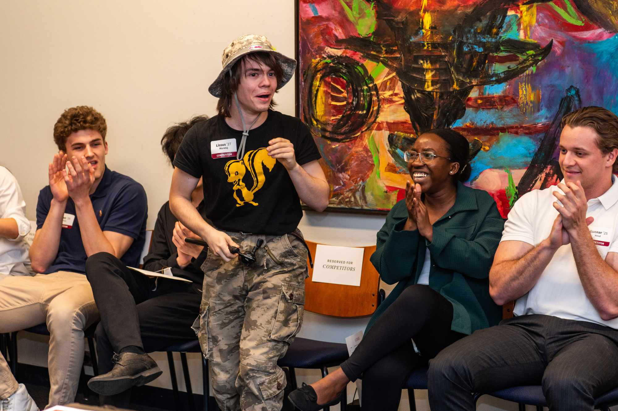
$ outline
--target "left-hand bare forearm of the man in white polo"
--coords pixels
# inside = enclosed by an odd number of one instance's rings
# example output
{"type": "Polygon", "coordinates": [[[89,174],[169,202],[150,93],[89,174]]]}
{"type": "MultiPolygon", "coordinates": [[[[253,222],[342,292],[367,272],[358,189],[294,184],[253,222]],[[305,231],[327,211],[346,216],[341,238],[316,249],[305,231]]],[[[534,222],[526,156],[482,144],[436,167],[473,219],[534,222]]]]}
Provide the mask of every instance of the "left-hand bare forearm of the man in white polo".
{"type": "Polygon", "coordinates": [[[520,259],[494,262],[489,270],[489,294],[494,302],[503,305],[528,293],[555,252],[543,241],[520,259]]]}

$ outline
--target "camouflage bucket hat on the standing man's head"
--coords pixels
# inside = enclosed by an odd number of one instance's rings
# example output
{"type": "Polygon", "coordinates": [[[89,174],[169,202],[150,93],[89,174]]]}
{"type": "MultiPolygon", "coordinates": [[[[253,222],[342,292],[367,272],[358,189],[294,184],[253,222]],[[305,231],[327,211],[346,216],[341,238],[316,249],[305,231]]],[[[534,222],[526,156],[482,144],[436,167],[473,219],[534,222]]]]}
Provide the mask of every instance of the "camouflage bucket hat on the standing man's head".
{"type": "Polygon", "coordinates": [[[210,85],[208,91],[210,94],[213,94],[215,97],[221,97],[221,85],[223,82],[223,77],[227,73],[227,70],[232,68],[232,66],[237,62],[240,57],[245,56],[245,54],[254,53],[258,51],[269,52],[274,54],[276,59],[281,64],[281,68],[283,69],[283,80],[281,83],[277,84],[277,90],[286,85],[292,75],[294,75],[294,70],[296,68],[296,60],[290,59],[289,57],[284,56],[280,52],[277,52],[271,44],[270,41],[266,38],[266,36],[260,35],[244,35],[235,39],[230,43],[229,46],[223,51],[223,55],[221,57],[221,64],[223,65],[223,70],[219,73],[219,76],[216,80],[213,81],[213,84],[210,85]]]}

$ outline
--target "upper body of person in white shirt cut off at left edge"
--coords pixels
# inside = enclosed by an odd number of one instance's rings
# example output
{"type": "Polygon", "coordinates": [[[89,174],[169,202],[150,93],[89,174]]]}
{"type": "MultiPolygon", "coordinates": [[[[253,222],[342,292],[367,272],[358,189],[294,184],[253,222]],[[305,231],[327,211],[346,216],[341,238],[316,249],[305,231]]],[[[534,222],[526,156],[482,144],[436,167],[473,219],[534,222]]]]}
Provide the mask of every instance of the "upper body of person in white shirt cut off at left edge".
{"type": "Polygon", "coordinates": [[[26,218],[26,202],[17,179],[0,165],[0,280],[6,275],[30,275],[26,264],[28,243],[24,237],[30,232],[26,218]]]}

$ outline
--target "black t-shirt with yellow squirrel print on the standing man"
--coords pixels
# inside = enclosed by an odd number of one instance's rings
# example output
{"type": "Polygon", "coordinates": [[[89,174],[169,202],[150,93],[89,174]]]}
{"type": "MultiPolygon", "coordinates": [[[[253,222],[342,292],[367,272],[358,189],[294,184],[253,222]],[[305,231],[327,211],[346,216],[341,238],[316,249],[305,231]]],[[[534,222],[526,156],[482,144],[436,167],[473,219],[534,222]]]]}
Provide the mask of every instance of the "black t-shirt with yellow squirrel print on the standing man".
{"type": "Polygon", "coordinates": [[[216,115],[187,131],[174,166],[196,178],[203,176],[205,215],[216,228],[268,235],[297,228],[302,218],[298,193],[286,168],[266,152],[268,141],[277,137],[294,144],[300,165],[321,157],[299,118],[273,110],[260,127],[249,131],[240,160],[235,153],[231,156],[230,150],[211,152],[211,147],[224,144],[223,140],[234,139],[235,146],[240,146],[242,130],[229,127],[223,117],[216,115]]]}

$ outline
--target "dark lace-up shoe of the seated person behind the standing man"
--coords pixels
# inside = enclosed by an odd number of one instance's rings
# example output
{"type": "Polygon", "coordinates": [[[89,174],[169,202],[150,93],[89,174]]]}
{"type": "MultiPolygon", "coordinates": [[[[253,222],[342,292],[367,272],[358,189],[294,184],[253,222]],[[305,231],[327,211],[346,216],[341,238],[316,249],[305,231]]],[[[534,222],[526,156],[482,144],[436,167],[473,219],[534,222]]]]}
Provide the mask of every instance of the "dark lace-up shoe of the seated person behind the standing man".
{"type": "Polygon", "coordinates": [[[148,354],[123,352],[114,354],[114,368],[109,373],[90,378],[88,388],[97,394],[113,396],[133,386],[155,380],[163,372],[148,354]]]}

